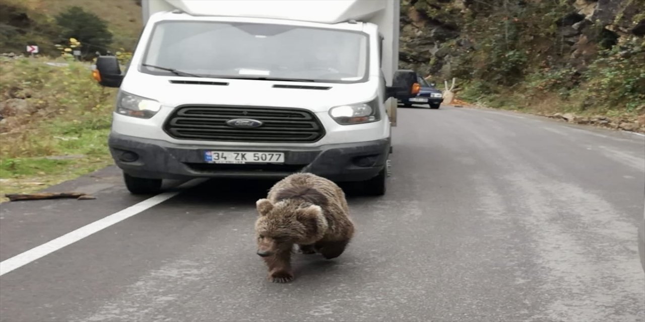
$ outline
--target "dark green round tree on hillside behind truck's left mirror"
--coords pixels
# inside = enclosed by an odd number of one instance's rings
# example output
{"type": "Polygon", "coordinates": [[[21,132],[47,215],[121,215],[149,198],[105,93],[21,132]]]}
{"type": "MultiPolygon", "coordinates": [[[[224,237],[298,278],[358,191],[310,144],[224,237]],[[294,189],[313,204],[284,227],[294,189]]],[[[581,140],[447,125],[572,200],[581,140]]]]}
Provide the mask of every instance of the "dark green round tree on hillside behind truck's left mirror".
{"type": "Polygon", "coordinates": [[[83,57],[97,51],[106,52],[112,44],[112,33],[108,31],[106,21],[83,8],[72,6],[55,19],[61,28],[59,43],[66,43],[70,38],[77,39],[83,44],[83,57]]]}

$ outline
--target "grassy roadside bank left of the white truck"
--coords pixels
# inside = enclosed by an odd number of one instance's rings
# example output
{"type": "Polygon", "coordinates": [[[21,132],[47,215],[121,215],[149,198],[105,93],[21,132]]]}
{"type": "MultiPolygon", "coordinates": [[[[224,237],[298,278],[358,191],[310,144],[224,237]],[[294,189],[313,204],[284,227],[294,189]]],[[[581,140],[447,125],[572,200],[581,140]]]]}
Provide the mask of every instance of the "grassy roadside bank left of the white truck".
{"type": "Polygon", "coordinates": [[[88,64],[61,59],[2,59],[0,202],[112,164],[107,148],[115,90],[99,86],[88,64]],[[8,102],[26,103],[26,110],[8,102]]]}

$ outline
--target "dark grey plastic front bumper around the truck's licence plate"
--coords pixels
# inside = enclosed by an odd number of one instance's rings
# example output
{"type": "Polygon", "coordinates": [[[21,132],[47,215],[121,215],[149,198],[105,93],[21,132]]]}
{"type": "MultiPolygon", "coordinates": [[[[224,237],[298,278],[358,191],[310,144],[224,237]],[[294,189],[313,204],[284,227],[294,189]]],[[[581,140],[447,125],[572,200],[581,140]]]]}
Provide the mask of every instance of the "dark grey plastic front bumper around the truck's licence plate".
{"type": "Polygon", "coordinates": [[[110,133],[110,153],[116,165],[140,178],[258,178],[279,179],[292,173],[310,172],[337,182],[373,178],[385,167],[390,138],[369,142],[329,144],[319,147],[253,147],[181,145],[163,140],[110,133]],[[283,152],[284,164],[212,164],[204,151],[283,152]]]}

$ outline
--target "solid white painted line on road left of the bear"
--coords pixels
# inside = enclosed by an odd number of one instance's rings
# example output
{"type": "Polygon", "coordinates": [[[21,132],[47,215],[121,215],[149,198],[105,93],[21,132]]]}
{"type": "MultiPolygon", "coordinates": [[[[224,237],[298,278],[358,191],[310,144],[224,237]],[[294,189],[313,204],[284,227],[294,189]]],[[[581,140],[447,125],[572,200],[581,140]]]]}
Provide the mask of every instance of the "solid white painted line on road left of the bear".
{"type": "MultiPolygon", "coordinates": [[[[185,182],[182,185],[177,187],[178,189],[186,189],[187,187],[192,187],[194,185],[204,182],[206,179],[195,179],[185,182]]],[[[70,245],[72,243],[78,242],[83,238],[94,234],[95,232],[101,231],[114,225],[115,223],[126,220],[135,214],[142,213],[146,209],[150,209],[155,205],[161,204],[162,202],[176,196],[181,193],[181,191],[173,191],[168,193],[157,194],[156,196],[150,197],[139,204],[131,205],[122,211],[119,211],[114,214],[110,214],[107,217],[101,218],[93,223],[88,223],[83,227],[76,229],[75,231],[68,232],[63,236],[50,240],[49,242],[44,243],[43,245],[36,246],[26,252],[17,254],[12,258],[8,258],[0,262],[0,276],[5,275],[8,272],[11,272],[14,269],[18,269],[32,261],[43,258],[44,256],[51,254],[52,252],[58,251],[59,249],[70,245]]]]}

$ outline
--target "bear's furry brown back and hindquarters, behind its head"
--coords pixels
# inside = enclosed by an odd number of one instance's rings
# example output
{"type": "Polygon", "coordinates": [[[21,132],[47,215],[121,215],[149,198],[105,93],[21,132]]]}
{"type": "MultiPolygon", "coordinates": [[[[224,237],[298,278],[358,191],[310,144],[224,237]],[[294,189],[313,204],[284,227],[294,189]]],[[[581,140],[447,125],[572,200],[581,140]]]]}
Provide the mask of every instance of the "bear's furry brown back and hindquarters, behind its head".
{"type": "Polygon", "coordinates": [[[319,205],[329,226],[323,240],[348,240],[353,236],[354,225],[350,220],[345,193],[331,180],[312,173],[294,173],[273,185],[268,199],[272,204],[296,199],[319,205]]]}

